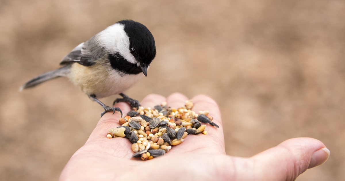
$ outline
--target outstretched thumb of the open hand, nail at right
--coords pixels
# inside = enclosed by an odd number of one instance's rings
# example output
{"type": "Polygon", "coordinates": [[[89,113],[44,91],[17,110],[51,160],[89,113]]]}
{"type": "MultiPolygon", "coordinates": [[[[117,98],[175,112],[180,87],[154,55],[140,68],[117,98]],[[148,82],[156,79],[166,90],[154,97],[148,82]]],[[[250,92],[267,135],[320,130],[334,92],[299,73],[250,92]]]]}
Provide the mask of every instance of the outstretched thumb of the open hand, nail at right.
{"type": "Polygon", "coordinates": [[[293,138],[254,155],[254,177],[258,180],[295,180],[306,169],[324,163],[329,150],[313,138],[293,138]]]}

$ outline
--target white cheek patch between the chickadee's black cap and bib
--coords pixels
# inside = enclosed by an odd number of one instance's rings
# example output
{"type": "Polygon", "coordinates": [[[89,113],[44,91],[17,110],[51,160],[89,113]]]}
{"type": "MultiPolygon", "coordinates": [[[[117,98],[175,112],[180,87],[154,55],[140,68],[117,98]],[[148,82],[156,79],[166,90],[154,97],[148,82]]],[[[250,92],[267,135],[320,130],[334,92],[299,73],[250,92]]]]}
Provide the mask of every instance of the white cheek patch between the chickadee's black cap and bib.
{"type": "Polygon", "coordinates": [[[129,50],[129,37],[123,24],[113,24],[97,34],[99,44],[110,53],[119,52],[128,62],[139,65],[129,50]]]}

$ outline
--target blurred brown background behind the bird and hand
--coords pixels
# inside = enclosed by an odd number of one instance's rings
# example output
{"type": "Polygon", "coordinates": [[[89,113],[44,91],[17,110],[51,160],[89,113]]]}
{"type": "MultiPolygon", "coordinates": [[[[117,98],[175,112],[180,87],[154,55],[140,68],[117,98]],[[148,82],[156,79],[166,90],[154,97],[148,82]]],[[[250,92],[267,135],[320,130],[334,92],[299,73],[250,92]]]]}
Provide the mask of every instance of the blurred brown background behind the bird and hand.
{"type": "Polygon", "coordinates": [[[132,98],[208,94],[227,154],[312,137],[331,157],[297,180],[345,178],[345,1],[0,0],[0,180],[58,180],[102,108],[65,78],[18,89],[122,19],[144,24],[157,46],[132,98]]]}

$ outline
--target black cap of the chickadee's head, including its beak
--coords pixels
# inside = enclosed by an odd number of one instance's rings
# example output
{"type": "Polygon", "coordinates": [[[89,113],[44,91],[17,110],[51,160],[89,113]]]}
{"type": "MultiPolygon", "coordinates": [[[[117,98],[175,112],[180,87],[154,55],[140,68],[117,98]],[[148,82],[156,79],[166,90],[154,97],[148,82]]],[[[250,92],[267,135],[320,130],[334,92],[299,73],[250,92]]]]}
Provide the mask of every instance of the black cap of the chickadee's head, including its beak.
{"type": "Polygon", "coordinates": [[[156,44],[151,32],[141,23],[133,20],[122,20],[129,37],[129,50],[140,63],[140,69],[147,76],[147,68],[156,56],[156,44]]]}

